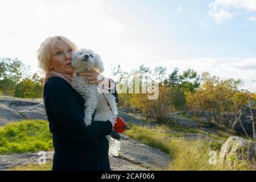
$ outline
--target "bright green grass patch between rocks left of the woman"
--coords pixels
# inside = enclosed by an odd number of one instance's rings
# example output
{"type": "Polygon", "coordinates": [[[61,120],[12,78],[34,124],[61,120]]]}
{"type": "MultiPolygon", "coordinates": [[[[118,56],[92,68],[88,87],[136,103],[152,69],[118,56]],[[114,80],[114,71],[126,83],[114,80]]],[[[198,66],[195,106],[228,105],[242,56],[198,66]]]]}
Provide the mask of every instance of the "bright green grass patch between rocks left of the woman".
{"type": "Polygon", "coordinates": [[[0,154],[53,150],[48,122],[22,120],[0,127],[0,154]]]}

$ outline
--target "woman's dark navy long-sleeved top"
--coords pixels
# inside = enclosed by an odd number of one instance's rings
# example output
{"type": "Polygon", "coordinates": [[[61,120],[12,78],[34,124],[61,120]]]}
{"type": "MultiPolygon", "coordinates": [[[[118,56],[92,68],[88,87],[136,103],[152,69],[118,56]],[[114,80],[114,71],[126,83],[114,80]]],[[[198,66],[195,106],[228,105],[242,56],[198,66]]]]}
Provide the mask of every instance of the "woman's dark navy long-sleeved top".
{"type": "MultiPolygon", "coordinates": [[[[118,102],[118,94],[113,93],[118,102]]],[[[44,85],[44,105],[52,133],[52,170],[111,170],[109,164],[110,121],[84,123],[84,98],[60,77],[50,77],[44,85]]]]}

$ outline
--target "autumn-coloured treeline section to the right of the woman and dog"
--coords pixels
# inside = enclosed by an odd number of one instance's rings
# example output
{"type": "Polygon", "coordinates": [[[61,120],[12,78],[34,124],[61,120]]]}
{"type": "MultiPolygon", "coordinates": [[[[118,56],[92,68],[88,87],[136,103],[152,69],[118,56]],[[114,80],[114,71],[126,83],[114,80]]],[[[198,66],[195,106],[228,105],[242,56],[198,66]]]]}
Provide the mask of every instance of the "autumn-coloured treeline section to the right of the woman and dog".
{"type": "MultiPolygon", "coordinates": [[[[119,93],[119,106],[137,107],[145,114],[153,114],[163,119],[170,111],[212,111],[216,125],[228,125],[220,119],[221,113],[237,113],[241,107],[250,101],[256,101],[256,93],[242,91],[242,80],[229,78],[220,80],[208,72],[199,75],[192,69],[179,73],[177,68],[167,75],[165,67],[156,67],[154,70],[141,65],[131,72],[123,72],[121,65],[112,69],[113,76],[118,84],[133,82],[134,76],[139,76],[140,85],[143,82],[156,81],[159,83],[159,97],[157,100],[148,100],[150,93],[119,93]],[[247,94],[248,93],[248,94],[247,94]],[[249,97],[248,97],[249,96],[249,97]]],[[[144,83],[145,84],[145,83],[144,83]]],[[[133,88],[135,85],[133,86],[133,88]]],[[[140,87],[141,88],[141,87],[140,87]]],[[[209,121],[210,122],[210,121],[209,121]]]]}

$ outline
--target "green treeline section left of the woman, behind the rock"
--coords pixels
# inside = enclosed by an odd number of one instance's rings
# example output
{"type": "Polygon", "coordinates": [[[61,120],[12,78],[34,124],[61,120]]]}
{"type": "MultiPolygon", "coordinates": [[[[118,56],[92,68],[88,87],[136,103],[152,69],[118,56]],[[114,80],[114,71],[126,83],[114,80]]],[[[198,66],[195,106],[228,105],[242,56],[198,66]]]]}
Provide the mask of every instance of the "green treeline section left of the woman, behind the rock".
{"type": "Polygon", "coordinates": [[[43,78],[30,74],[30,67],[17,58],[0,58],[0,94],[11,97],[42,98],[43,78]]]}

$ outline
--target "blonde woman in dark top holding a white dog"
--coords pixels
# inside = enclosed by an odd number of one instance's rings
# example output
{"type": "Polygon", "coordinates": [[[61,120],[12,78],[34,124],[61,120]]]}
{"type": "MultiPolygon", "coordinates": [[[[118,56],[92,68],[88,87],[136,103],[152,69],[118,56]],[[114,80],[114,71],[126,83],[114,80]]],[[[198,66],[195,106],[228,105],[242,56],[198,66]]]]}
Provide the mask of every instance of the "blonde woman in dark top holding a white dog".
{"type": "MultiPolygon", "coordinates": [[[[85,126],[84,98],[70,85],[75,74],[71,57],[76,49],[63,36],[47,38],[38,49],[39,67],[46,74],[43,99],[55,149],[52,170],[111,171],[105,135],[112,132],[114,123],[93,121],[85,126]]],[[[84,76],[88,84],[99,82],[96,71],[77,74],[84,76]]],[[[110,87],[110,79],[104,78],[110,87]]],[[[115,88],[114,91],[118,102],[115,88]]]]}

